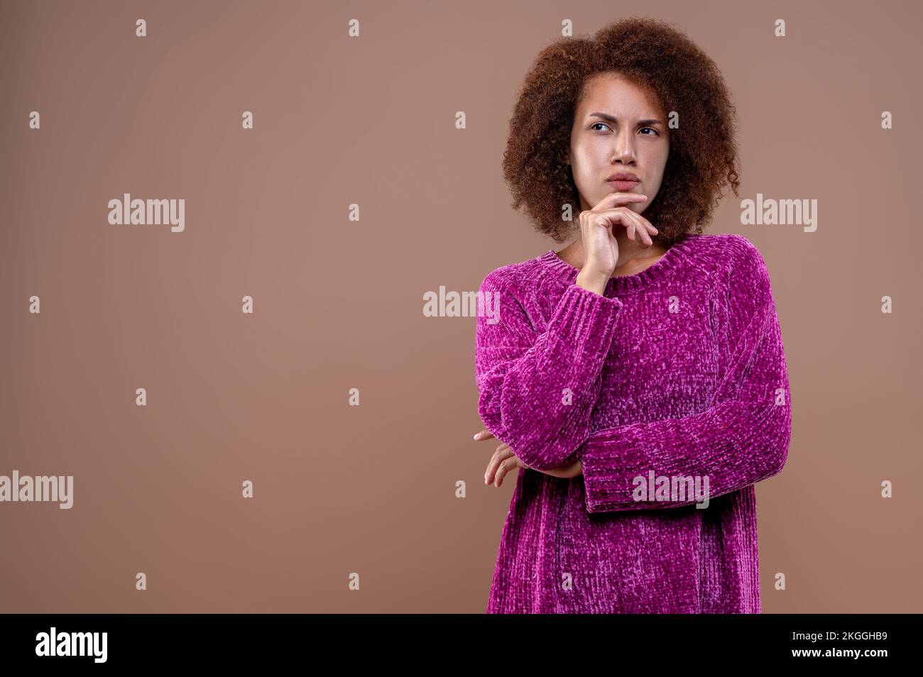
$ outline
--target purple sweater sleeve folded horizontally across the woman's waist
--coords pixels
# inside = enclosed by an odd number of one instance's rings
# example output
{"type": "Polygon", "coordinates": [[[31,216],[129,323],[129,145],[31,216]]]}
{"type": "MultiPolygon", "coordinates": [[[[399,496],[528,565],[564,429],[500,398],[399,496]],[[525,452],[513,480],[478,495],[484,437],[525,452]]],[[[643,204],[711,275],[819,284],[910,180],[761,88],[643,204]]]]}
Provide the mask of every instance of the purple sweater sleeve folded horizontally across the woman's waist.
{"type": "Polygon", "coordinates": [[[731,263],[719,267],[724,279],[716,287],[725,291],[717,292],[714,312],[725,366],[713,406],[685,418],[621,425],[588,437],[579,452],[588,512],[706,507],[688,491],[689,480],[699,478],[705,497],[716,498],[772,477],[785,465],[791,404],[769,273],[756,247],[741,236],[725,245],[724,257],[731,263]],[[653,500],[656,482],[650,486],[650,480],[661,477],[677,487],[677,493],[657,496],[669,500],[653,500]],[[635,497],[642,483],[637,478],[644,480],[647,500],[635,497]],[[678,492],[680,478],[687,479],[685,496],[678,492]]]}

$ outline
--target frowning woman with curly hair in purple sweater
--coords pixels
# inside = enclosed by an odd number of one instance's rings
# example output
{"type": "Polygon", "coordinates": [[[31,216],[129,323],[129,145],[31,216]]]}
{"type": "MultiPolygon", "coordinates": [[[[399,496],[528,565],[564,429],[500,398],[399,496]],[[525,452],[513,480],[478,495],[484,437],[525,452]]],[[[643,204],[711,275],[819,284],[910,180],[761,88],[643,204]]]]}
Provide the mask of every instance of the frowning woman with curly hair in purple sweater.
{"type": "Polygon", "coordinates": [[[526,78],[513,207],[576,237],[481,285],[475,439],[503,443],[485,483],[520,469],[487,612],[761,612],[753,485],[791,407],[759,251],[701,232],[737,195],[733,132],[716,66],[661,21],[558,41],[526,78]]]}

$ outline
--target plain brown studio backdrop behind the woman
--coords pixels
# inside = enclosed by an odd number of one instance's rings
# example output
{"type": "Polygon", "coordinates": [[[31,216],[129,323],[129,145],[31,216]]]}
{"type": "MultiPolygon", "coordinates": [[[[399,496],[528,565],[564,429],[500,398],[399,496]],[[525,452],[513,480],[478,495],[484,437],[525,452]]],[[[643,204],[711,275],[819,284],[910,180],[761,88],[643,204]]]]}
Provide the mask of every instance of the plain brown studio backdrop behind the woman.
{"type": "MultiPolygon", "coordinates": [[[[763,610],[920,612],[920,9],[645,10],[724,72],[741,198],[819,200],[817,232],[733,198],[710,229],[765,258],[791,380],[763,610]]],[[[474,318],[423,293],[561,248],[509,208],[514,92],[562,19],[629,5],[2,11],[0,474],[74,475],[75,505],[0,504],[0,611],[483,612],[514,482],[485,487],[471,439],[474,318]],[[126,192],[186,198],[186,231],[109,225],[126,192]]]]}

